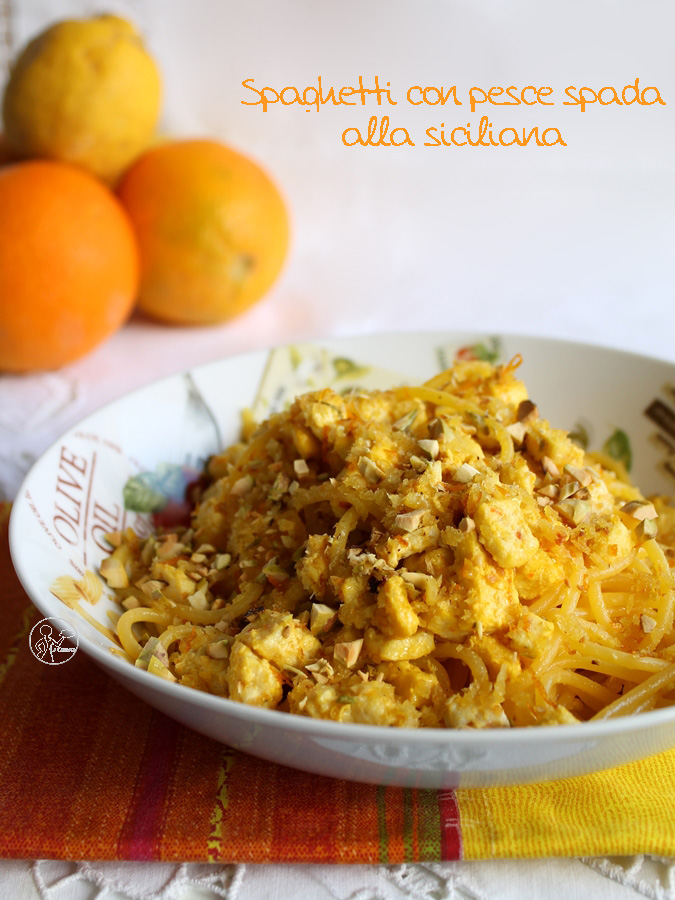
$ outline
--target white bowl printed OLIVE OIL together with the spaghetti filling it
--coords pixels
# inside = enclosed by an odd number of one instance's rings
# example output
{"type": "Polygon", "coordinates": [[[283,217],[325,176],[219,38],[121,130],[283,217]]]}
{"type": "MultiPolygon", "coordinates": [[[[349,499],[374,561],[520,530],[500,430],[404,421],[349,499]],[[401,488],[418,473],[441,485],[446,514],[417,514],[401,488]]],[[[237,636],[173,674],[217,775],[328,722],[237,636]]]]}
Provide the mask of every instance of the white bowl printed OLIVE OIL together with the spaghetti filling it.
{"type": "Polygon", "coordinates": [[[674,382],[466,334],[207,364],[43,455],[13,559],[114,678],[271,761],[426,787],[607,768],[675,744],[674,382]]]}

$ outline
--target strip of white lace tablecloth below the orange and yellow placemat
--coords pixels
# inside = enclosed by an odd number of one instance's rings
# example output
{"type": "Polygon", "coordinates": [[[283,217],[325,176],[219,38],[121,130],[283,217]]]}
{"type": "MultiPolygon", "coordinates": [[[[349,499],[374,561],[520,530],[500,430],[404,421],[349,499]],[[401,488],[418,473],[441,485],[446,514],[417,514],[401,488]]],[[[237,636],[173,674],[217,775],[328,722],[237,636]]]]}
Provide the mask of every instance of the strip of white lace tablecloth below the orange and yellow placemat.
{"type": "Polygon", "coordinates": [[[535,860],[401,866],[5,862],[5,897],[41,900],[636,900],[673,896],[665,860],[535,860]]]}

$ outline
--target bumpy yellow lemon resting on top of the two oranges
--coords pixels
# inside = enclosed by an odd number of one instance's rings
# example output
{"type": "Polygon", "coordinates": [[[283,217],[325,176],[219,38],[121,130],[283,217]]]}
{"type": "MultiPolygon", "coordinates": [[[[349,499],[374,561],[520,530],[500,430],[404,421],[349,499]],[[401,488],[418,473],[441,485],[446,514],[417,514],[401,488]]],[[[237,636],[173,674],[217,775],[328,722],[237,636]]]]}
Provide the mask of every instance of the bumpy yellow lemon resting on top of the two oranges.
{"type": "Polygon", "coordinates": [[[149,145],[160,100],[159,71],[133,25],[111,15],[67,20],[12,67],[5,136],[17,156],[75,163],[113,183],[149,145]]]}

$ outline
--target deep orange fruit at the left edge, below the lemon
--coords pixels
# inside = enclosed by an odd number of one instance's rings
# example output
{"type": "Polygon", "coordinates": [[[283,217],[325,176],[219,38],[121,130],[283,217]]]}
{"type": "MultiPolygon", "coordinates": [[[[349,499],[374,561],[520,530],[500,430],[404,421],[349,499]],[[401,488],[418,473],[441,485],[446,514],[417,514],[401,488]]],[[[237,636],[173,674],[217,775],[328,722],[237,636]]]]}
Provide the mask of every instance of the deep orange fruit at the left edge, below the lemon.
{"type": "Polygon", "coordinates": [[[138,250],[116,197],[65,163],[0,170],[0,370],[53,369],[131,311],[138,250]]]}

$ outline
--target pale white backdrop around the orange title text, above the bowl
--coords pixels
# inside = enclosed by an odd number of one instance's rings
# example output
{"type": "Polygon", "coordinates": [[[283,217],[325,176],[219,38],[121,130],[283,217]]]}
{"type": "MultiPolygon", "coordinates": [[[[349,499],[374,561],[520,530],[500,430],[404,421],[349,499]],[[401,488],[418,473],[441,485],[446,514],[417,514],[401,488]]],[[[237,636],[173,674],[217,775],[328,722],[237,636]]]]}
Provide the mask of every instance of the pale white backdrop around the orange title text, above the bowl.
{"type": "MultiPolygon", "coordinates": [[[[669,0],[13,0],[15,45],[64,14],[118,9],[165,79],[163,126],[260,160],[287,197],[289,265],[249,315],[259,342],[391,327],[602,340],[670,355],[675,67],[669,0]],[[390,81],[414,148],[342,145],[377,108],[243,106],[241,82],[304,88],[390,81]],[[567,85],[657,85],[667,106],[565,107],[567,85]],[[478,123],[468,106],[413,107],[409,85],[550,85],[556,105],[492,108],[556,125],[567,147],[424,147],[424,129],[478,123]],[[597,311],[613,320],[603,328],[597,311]],[[279,319],[283,320],[280,329],[279,319]],[[272,327],[274,326],[274,327],[272,327]]],[[[244,322],[238,323],[243,328],[244,322]]],[[[223,336],[225,344],[227,335],[223,336]]]]}

